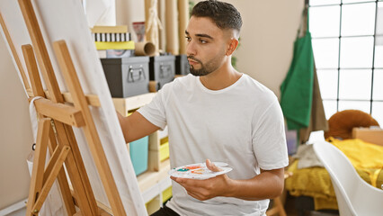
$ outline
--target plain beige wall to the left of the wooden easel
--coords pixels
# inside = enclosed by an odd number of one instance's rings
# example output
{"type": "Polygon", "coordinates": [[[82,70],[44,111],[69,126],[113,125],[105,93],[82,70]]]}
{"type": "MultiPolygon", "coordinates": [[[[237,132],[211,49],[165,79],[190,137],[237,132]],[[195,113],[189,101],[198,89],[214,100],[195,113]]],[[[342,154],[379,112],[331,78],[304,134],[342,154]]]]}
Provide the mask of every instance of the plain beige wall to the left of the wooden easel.
{"type": "Polygon", "coordinates": [[[28,196],[31,144],[28,99],[0,36],[0,210],[28,196]]]}

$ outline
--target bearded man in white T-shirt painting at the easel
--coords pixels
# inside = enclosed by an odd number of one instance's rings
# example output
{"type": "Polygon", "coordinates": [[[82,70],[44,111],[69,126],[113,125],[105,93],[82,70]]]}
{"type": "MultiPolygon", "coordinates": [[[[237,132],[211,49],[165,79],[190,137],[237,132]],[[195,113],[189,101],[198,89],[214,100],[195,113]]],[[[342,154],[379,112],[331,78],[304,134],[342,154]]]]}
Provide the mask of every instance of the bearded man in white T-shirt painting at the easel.
{"type": "Polygon", "coordinates": [[[168,126],[171,167],[211,161],[233,170],[206,180],[174,178],[154,215],[264,215],[288,165],[281,107],[272,91],[231,66],[242,26],[236,8],[195,5],[185,31],[191,75],[164,85],[147,106],[120,116],[127,142],[168,126]]]}

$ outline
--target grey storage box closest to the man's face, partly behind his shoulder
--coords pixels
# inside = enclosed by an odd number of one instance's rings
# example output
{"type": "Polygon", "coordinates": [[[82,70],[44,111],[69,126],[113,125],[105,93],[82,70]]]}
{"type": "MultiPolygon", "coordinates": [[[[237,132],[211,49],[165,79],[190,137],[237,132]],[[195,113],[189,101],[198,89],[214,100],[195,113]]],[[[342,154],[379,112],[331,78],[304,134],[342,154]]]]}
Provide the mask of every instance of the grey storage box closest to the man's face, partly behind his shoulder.
{"type": "Polygon", "coordinates": [[[175,75],[174,56],[150,57],[149,78],[157,82],[157,90],[166,83],[172,82],[175,75]]]}

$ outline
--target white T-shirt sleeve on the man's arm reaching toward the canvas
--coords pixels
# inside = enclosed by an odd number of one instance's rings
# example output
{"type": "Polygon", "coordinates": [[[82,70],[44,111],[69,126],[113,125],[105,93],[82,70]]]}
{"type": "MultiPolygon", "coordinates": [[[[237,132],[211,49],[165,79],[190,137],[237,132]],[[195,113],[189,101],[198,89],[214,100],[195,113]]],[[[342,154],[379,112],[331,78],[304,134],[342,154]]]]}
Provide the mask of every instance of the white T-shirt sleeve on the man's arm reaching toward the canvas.
{"type": "Polygon", "coordinates": [[[164,85],[153,98],[152,102],[138,109],[147,121],[150,121],[162,130],[166,126],[165,105],[168,100],[172,83],[164,85]]]}

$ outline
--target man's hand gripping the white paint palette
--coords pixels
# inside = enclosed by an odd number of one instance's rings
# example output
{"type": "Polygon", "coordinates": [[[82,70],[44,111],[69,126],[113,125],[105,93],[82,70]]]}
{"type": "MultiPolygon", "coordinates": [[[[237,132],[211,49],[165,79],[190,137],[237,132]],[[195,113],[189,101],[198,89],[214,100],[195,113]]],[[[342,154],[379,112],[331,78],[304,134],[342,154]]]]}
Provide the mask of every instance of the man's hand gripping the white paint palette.
{"type": "MultiPolygon", "coordinates": [[[[206,166],[209,170],[221,171],[218,166],[206,160],[206,166]]],[[[197,200],[204,201],[216,196],[227,196],[231,187],[229,186],[231,179],[227,175],[218,175],[205,180],[173,177],[171,178],[178,184],[181,184],[189,195],[197,200]]]]}

